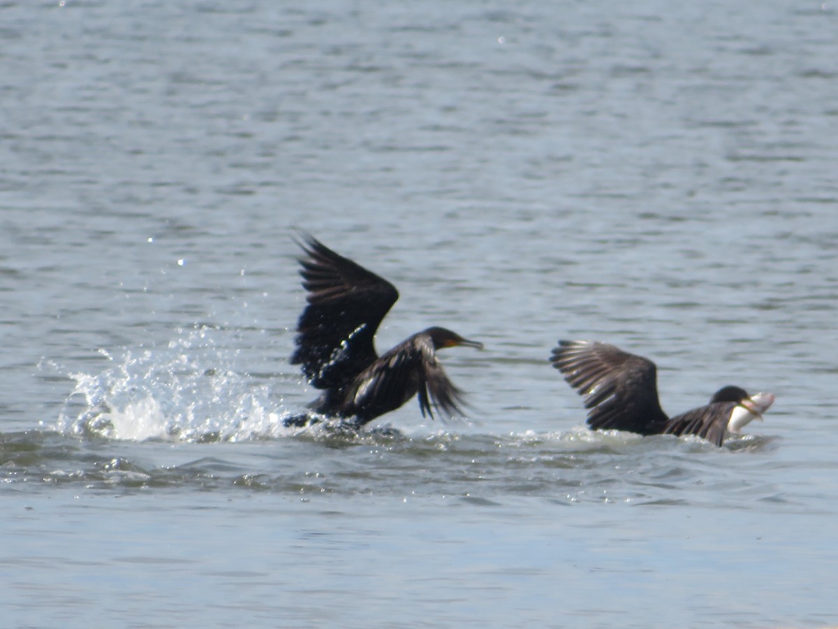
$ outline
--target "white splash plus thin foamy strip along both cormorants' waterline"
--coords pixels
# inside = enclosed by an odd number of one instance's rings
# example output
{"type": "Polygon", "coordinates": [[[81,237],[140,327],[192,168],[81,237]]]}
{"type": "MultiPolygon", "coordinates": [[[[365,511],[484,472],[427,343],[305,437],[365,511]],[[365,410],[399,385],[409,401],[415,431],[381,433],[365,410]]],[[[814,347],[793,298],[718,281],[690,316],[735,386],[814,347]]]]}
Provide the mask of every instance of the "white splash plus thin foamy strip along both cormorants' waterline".
{"type": "MultiPolygon", "coordinates": [[[[198,327],[185,330],[168,346],[126,350],[115,358],[103,352],[110,366],[100,373],[66,372],[75,382],[54,429],[73,437],[189,443],[236,442],[281,439],[295,436],[324,441],[334,447],[357,444],[389,444],[442,439],[433,448],[446,447],[447,439],[458,437],[445,429],[419,437],[403,434],[388,425],[362,431],[339,420],[299,427],[287,427],[287,418],[302,409],[287,408],[274,388],[277,382],[302,386],[297,377],[272,377],[270,384],[235,368],[237,352],[215,341],[218,330],[198,327]]],[[[510,447],[538,447],[551,444],[561,450],[591,452],[659,448],[663,437],[642,438],[615,431],[594,432],[580,425],[574,429],[535,434],[462,435],[466,439],[500,439],[510,447]]],[[[685,448],[704,450],[701,439],[677,439],[685,448]]],[[[771,439],[742,436],[731,439],[726,450],[761,450],[771,439]]]]}

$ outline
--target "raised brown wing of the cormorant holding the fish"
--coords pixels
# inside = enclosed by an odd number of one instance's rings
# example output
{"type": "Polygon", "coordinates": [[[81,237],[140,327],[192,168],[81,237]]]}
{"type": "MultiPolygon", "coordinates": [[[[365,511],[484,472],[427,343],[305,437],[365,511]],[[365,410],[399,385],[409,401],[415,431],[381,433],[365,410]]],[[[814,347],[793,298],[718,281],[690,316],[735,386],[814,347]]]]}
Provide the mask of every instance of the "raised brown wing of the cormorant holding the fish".
{"type": "Polygon", "coordinates": [[[606,343],[560,340],[550,361],[584,396],[592,429],[657,434],[668,420],[658,400],[657,369],[643,356],[606,343]]]}

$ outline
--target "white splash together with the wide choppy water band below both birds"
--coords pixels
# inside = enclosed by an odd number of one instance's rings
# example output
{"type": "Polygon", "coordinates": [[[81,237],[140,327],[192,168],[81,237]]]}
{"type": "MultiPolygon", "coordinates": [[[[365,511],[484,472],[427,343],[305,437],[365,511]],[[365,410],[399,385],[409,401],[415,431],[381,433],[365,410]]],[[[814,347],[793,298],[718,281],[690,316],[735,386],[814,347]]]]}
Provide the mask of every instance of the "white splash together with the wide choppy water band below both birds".
{"type": "MultiPolygon", "coordinates": [[[[219,334],[223,330],[186,330],[168,346],[106,355],[108,364],[98,373],[65,370],[75,387],[51,427],[55,432],[0,434],[0,478],[118,491],[241,486],[303,496],[479,497],[487,504],[527,495],[563,504],[649,502],[671,501],[673,491],[692,491],[697,482],[710,488],[730,483],[729,465],[718,465],[718,457],[774,447],[773,439],[761,437],[737,437],[718,449],[674,435],[640,437],[582,424],[558,429],[560,418],[556,430],[509,434],[438,424],[431,430],[383,424],[356,431],[325,418],[287,428],[283,420],[303,409],[284,403],[275,389],[303,383],[236,368],[241,356],[220,346],[219,334]],[[180,445],[171,448],[170,442],[180,445]],[[215,446],[198,445],[207,443],[215,446]]],[[[491,427],[492,419],[484,424],[491,427]]],[[[737,465],[750,470],[760,463],[748,459],[737,457],[737,465]]],[[[737,483],[749,476],[758,479],[746,471],[737,483]]],[[[755,495],[775,492],[754,488],[755,482],[745,484],[755,495]]]]}

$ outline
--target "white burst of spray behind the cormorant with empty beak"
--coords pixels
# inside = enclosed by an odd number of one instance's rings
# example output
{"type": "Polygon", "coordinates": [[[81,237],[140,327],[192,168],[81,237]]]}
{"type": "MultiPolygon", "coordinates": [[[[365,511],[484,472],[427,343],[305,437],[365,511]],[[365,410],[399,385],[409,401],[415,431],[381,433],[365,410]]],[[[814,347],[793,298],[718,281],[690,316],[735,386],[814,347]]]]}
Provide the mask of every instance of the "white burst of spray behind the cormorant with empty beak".
{"type": "Polygon", "coordinates": [[[289,414],[270,387],[235,370],[235,351],[213,328],[181,331],[168,346],[102,352],[101,373],[68,373],[75,387],[55,426],[62,434],[107,439],[237,441],[287,434],[289,414]],[[278,408],[277,408],[278,407],[278,408]]]}

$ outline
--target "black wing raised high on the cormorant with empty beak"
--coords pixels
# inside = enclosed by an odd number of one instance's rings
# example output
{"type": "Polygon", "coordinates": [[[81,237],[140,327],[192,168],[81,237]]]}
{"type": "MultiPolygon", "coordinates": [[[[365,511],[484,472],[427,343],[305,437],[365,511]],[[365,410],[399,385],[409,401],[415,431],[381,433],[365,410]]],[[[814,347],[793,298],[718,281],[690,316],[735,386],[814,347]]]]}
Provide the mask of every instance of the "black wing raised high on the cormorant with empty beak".
{"type": "Polygon", "coordinates": [[[292,364],[314,387],[343,387],[375,361],[375,330],[399,299],[390,282],[312,236],[300,242],[308,305],[297,321],[292,364]]]}

